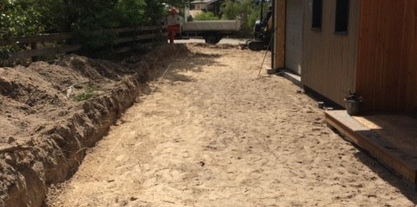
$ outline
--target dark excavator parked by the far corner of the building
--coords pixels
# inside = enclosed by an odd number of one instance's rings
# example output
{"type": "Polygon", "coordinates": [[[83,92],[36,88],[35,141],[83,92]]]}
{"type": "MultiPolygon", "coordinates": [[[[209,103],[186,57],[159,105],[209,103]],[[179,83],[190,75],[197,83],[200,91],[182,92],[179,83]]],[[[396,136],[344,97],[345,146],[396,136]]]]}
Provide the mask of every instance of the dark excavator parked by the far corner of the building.
{"type": "Polygon", "coordinates": [[[264,17],[264,3],[265,0],[259,0],[260,18],[255,22],[255,26],[253,28],[253,39],[246,42],[246,45],[250,50],[259,51],[271,49],[273,10],[272,6],[269,6],[264,17]]]}

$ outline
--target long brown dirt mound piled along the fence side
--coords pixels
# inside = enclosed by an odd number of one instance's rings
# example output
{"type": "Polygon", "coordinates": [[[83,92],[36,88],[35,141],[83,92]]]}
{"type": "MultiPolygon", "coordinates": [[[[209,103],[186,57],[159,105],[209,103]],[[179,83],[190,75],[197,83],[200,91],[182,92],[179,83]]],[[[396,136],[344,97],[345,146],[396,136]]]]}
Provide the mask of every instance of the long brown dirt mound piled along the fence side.
{"type": "Polygon", "coordinates": [[[0,206],[41,206],[183,45],[115,63],[69,55],[0,68],[0,206]]]}

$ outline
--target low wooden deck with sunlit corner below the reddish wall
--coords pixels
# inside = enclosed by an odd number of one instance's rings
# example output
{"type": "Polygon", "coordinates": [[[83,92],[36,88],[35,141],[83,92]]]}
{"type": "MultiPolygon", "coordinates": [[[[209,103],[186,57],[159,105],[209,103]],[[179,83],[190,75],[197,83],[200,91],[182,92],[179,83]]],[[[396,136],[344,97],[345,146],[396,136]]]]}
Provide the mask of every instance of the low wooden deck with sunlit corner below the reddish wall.
{"type": "Polygon", "coordinates": [[[417,119],[398,114],[350,116],[325,112],[326,122],[381,163],[417,185],[417,119]]]}

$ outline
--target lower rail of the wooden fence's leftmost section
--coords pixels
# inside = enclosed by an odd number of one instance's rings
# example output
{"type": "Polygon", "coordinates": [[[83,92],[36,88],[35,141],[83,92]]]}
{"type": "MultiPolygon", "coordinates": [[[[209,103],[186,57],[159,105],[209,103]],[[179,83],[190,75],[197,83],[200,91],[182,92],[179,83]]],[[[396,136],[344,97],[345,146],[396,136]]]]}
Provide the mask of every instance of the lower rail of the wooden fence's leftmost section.
{"type": "Polygon", "coordinates": [[[33,50],[24,50],[12,53],[9,57],[10,60],[16,59],[25,59],[31,58],[33,56],[42,56],[42,55],[49,55],[49,54],[57,54],[57,53],[65,53],[69,51],[75,51],[81,49],[81,44],[76,45],[64,45],[61,47],[53,47],[53,48],[42,48],[42,49],[33,49],[33,50]]]}

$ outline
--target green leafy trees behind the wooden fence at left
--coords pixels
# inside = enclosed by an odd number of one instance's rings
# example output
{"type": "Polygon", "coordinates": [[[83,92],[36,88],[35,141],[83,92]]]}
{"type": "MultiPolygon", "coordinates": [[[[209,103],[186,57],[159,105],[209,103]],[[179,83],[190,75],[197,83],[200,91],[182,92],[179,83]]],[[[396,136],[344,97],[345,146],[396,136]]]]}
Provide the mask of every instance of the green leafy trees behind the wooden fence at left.
{"type": "MultiPolygon", "coordinates": [[[[182,2],[168,1],[174,5],[182,2]]],[[[158,25],[165,18],[162,2],[163,0],[0,0],[0,38],[45,32],[77,32],[82,37],[84,48],[112,46],[116,37],[105,29],[158,25]]],[[[6,50],[0,48],[2,49],[6,50]]]]}

